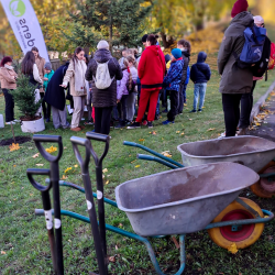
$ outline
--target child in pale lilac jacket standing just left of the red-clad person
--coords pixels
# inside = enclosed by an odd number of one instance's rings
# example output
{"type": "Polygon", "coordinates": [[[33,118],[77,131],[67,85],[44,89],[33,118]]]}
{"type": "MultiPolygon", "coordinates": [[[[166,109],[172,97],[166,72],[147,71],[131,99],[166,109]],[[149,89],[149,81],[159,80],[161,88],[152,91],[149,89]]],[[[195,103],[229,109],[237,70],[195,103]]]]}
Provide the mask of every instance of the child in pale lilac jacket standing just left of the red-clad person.
{"type": "Polygon", "coordinates": [[[120,119],[120,123],[114,129],[121,129],[127,125],[127,99],[129,97],[128,87],[129,89],[132,89],[132,74],[127,58],[123,61],[122,73],[123,77],[120,81],[118,81],[117,88],[117,100],[118,103],[121,102],[122,118],[120,119]]]}

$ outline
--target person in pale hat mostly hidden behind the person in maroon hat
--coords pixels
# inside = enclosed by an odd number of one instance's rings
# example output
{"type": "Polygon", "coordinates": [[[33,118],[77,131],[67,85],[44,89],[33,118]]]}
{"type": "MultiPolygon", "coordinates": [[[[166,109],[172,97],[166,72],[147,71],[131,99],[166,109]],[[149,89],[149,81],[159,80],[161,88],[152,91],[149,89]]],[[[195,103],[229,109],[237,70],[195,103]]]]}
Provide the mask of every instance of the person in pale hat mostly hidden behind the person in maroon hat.
{"type": "MultiPolygon", "coordinates": [[[[264,28],[264,19],[262,16],[257,15],[257,16],[254,16],[253,19],[254,19],[254,24],[257,28],[264,28]]],[[[265,43],[267,43],[267,45],[266,45],[267,48],[266,50],[264,48],[262,58],[264,58],[266,61],[271,56],[271,51],[268,51],[268,48],[271,48],[271,41],[268,41],[268,38],[266,37],[265,43]]],[[[262,63],[262,61],[260,63],[262,63]]],[[[262,63],[262,64],[264,64],[264,63],[262,63]]],[[[261,75],[265,74],[267,68],[268,68],[268,63],[266,62],[265,67],[260,68],[260,70],[262,70],[262,72],[257,72],[260,75],[253,76],[253,86],[252,86],[251,92],[242,95],[241,117],[240,117],[240,121],[239,121],[238,135],[245,135],[246,134],[248,128],[250,127],[250,116],[251,116],[251,111],[253,108],[253,91],[256,87],[257,80],[263,79],[263,76],[261,76],[261,75]]],[[[253,72],[254,72],[254,68],[253,68],[253,72]]]]}

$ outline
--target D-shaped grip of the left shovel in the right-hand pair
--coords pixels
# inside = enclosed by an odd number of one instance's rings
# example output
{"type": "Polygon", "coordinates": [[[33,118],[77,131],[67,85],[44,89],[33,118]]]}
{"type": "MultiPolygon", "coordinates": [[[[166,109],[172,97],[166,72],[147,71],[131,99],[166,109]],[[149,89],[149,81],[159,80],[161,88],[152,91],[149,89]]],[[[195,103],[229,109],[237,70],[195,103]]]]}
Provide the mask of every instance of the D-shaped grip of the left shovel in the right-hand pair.
{"type": "Polygon", "coordinates": [[[84,173],[87,173],[89,169],[89,162],[90,162],[90,142],[87,139],[72,136],[70,142],[73,144],[73,150],[75,156],[82,169],[84,173]],[[78,146],[85,146],[86,148],[86,156],[85,160],[82,158],[81,154],[79,153],[78,146]]]}

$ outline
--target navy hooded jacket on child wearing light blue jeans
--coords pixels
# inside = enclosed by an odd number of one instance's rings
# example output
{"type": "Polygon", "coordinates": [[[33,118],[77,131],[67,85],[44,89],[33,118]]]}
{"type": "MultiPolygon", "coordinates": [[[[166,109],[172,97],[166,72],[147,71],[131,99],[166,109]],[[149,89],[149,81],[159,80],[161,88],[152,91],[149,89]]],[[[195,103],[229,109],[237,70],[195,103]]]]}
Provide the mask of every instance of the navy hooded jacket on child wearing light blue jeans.
{"type": "Polygon", "coordinates": [[[207,54],[200,52],[198,55],[198,62],[191,66],[190,78],[195,84],[205,84],[210,80],[211,70],[208,64],[206,64],[207,54]]]}

